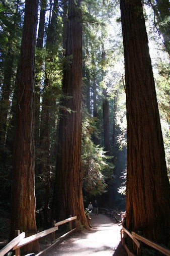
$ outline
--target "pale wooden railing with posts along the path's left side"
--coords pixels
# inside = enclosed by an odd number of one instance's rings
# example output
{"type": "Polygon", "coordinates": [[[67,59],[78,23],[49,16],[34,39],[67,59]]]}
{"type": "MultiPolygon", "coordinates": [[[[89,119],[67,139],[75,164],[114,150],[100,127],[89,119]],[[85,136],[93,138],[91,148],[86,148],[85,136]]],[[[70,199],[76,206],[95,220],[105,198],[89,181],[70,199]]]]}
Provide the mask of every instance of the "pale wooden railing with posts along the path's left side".
{"type": "Polygon", "coordinates": [[[51,245],[44,249],[43,251],[39,252],[37,255],[45,255],[45,253],[47,253],[48,251],[50,251],[53,247],[55,247],[59,242],[61,242],[64,237],[68,236],[70,233],[72,233],[73,231],[75,231],[76,229],[72,229],[71,226],[71,221],[75,220],[77,217],[70,217],[68,219],[65,219],[63,221],[57,222],[55,223],[55,221],[53,221],[53,227],[46,229],[42,232],[39,232],[35,235],[29,236],[29,237],[25,237],[25,232],[19,234],[16,238],[14,238],[10,243],[8,243],[3,249],[0,250],[0,255],[3,256],[5,255],[8,251],[10,250],[15,250],[15,255],[19,256],[20,255],[20,247],[33,242],[43,236],[46,236],[48,234],[52,234],[51,237],[51,245]],[[58,226],[65,224],[69,222],[69,232],[67,232],[66,234],[60,236],[58,239],[55,240],[55,231],[58,230],[58,226]]]}

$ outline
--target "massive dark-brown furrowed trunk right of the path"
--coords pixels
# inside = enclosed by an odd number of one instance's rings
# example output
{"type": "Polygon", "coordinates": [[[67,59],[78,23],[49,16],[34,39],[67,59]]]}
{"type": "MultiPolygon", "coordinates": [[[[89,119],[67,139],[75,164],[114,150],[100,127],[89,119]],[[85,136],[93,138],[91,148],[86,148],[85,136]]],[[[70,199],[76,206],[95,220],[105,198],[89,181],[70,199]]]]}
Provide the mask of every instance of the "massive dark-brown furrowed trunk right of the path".
{"type": "Polygon", "coordinates": [[[169,241],[169,182],[140,0],[120,0],[127,105],[127,228],[169,241]]]}

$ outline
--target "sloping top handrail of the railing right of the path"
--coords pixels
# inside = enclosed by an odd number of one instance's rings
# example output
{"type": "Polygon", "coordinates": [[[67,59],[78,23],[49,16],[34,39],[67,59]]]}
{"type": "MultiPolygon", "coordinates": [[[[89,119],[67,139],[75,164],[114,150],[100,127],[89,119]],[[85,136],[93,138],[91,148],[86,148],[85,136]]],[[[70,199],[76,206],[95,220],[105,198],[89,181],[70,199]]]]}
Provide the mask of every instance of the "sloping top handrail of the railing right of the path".
{"type": "Polygon", "coordinates": [[[154,249],[164,253],[165,255],[170,256],[170,250],[165,248],[165,247],[163,247],[163,246],[161,246],[161,245],[159,245],[158,243],[155,243],[152,240],[147,239],[144,236],[139,235],[139,234],[137,234],[135,232],[132,232],[132,237],[138,239],[141,242],[144,242],[145,244],[147,244],[147,245],[153,247],[154,249]]]}

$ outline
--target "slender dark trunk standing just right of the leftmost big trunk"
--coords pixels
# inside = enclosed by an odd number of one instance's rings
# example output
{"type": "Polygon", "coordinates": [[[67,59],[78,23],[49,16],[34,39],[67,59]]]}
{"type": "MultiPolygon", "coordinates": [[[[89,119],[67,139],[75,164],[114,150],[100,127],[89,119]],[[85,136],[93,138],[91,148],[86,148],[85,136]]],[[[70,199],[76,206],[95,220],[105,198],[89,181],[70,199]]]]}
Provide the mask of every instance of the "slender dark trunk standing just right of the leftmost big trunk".
{"type": "MultiPolygon", "coordinates": [[[[47,30],[47,58],[46,62],[53,63],[53,48],[55,47],[57,40],[57,15],[58,15],[58,0],[54,1],[51,20],[47,30]]],[[[46,65],[48,65],[46,63],[46,65]]],[[[44,173],[46,177],[45,185],[45,203],[44,203],[44,229],[48,227],[48,209],[49,209],[49,192],[50,192],[50,114],[53,106],[53,101],[50,100],[49,88],[50,74],[45,67],[45,81],[43,90],[43,101],[42,101],[42,114],[41,114],[41,128],[40,128],[40,150],[41,150],[41,162],[39,165],[39,174],[44,173]]]]}

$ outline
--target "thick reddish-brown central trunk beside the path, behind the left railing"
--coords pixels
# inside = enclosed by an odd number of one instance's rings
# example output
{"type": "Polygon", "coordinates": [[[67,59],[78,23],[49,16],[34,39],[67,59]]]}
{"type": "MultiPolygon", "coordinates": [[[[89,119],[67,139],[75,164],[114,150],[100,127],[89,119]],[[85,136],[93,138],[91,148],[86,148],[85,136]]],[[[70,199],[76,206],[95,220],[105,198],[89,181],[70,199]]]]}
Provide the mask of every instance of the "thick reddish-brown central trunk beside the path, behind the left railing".
{"type": "Polygon", "coordinates": [[[66,56],[72,63],[65,67],[63,91],[69,96],[63,106],[59,124],[59,141],[52,218],[62,220],[69,215],[88,228],[82,200],[81,171],[81,82],[82,29],[80,1],[69,0],[66,56]]]}

